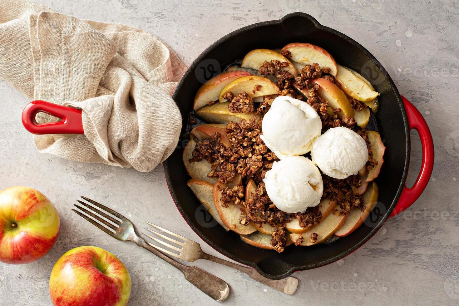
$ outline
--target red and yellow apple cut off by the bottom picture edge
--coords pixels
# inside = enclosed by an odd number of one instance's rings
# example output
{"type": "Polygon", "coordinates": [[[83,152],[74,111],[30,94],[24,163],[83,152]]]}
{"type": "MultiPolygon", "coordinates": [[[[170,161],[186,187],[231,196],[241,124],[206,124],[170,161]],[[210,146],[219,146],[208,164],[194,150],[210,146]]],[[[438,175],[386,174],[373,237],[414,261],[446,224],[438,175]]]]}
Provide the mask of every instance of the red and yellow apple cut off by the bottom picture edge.
{"type": "Polygon", "coordinates": [[[50,296],[55,306],[124,306],[131,276],[112,253],[95,247],[69,250],[51,271],[50,296]]]}

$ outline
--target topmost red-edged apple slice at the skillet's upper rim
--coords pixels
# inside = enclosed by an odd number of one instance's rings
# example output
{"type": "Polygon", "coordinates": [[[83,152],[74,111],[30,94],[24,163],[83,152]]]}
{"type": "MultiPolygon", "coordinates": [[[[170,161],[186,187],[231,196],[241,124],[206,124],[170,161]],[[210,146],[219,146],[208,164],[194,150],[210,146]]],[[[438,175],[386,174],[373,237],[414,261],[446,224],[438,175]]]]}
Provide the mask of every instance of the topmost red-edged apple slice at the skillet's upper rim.
{"type": "Polygon", "coordinates": [[[283,51],[288,50],[291,53],[291,61],[296,61],[304,65],[312,65],[318,63],[320,68],[330,68],[330,74],[336,76],[338,66],[333,56],[326,50],[312,44],[291,43],[282,48],[283,51]]]}

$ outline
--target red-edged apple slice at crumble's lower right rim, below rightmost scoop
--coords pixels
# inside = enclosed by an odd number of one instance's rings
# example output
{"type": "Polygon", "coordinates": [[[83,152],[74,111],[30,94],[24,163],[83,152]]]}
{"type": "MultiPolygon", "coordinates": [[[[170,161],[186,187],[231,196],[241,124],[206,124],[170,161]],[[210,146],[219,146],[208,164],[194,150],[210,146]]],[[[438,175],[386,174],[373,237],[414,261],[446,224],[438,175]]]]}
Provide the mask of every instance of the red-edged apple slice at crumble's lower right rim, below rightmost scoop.
{"type": "Polygon", "coordinates": [[[336,236],[344,237],[351,234],[360,225],[362,225],[362,223],[364,223],[369,213],[373,210],[373,208],[375,208],[375,205],[378,202],[378,185],[376,185],[375,182],[371,182],[370,184],[371,187],[362,195],[366,206],[364,211],[361,211],[358,208],[353,208],[349,211],[349,215],[347,216],[343,226],[336,231],[336,236]]]}

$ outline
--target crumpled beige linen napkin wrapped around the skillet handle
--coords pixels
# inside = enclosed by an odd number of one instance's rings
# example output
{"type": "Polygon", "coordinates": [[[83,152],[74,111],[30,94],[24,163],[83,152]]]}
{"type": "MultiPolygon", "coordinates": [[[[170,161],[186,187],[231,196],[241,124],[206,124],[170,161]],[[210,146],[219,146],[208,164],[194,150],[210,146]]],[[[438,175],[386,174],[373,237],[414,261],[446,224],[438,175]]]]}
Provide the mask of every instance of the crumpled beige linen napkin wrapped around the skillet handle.
{"type": "MultiPolygon", "coordinates": [[[[83,110],[84,135],[34,135],[40,152],[152,170],[179,139],[171,95],[185,70],[167,45],[140,29],[33,1],[0,1],[0,78],[30,101],[83,110]]],[[[39,122],[56,120],[39,115],[39,122]]]]}

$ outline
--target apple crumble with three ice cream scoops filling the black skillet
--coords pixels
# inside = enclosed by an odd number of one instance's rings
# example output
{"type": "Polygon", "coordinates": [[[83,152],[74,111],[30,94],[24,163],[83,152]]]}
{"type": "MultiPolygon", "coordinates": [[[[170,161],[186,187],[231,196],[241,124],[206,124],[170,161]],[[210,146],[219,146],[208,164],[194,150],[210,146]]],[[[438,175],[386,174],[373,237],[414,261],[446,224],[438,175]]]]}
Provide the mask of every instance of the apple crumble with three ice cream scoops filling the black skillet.
{"type": "Polygon", "coordinates": [[[250,51],[198,90],[183,152],[187,185],[227,231],[283,252],[344,237],[378,198],[378,93],[303,43],[250,51]],[[311,60],[308,60],[311,59],[311,60]]]}

